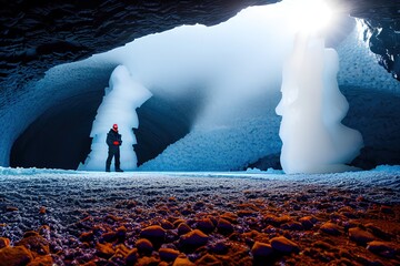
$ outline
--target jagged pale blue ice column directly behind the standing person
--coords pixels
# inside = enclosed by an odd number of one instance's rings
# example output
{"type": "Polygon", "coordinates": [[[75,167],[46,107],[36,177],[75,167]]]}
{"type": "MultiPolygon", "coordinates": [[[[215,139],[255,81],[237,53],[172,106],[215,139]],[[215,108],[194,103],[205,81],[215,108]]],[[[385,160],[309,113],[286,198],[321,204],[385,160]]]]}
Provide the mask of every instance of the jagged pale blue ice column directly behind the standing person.
{"type": "MultiPolygon", "coordinates": [[[[121,168],[129,171],[137,167],[138,160],[133,151],[133,144],[137,143],[137,140],[132,131],[139,126],[136,109],[140,108],[149,98],[151,98],[150,91],[134,82],[124,65],[114,69],[111,73],[109,88],[106,88],[106,94],[92,124],[90,133],[90,136],[93,137],[91,152],[84,164],[80,164],[78,170],[106,170],[108,156],[106,139],[112,124],[118,124],[119,133],[122,134],[121,168]]],[[[113,168],[113,161],[111,168],[113,168]]]]}

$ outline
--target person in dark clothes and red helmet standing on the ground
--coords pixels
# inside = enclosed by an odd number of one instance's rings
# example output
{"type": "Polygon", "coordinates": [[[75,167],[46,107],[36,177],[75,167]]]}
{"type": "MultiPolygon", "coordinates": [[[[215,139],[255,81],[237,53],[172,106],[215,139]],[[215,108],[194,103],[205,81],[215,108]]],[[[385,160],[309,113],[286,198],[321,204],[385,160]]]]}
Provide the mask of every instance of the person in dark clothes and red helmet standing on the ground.
{"type": "Polygon", "coordinates": [[[118,124],[113,124],[106,140],[109,146],[109,154],[106,161],[106,172],[110,172],[111,161],[114,157],[116,172],[123,172],[120,167],[120,145],[122,144],[122,136],[118,133],[118,124]]]}

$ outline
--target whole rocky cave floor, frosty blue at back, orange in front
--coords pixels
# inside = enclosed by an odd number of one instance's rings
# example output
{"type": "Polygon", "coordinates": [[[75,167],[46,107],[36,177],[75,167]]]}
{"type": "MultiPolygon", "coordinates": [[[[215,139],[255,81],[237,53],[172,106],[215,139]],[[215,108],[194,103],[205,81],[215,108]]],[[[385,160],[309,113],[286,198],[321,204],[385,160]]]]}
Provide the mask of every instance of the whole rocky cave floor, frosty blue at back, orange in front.
{"type": "Polygon", "coordinates": [[[400,175],[0,175],[0,265],[400,265],[400,175]]]}

